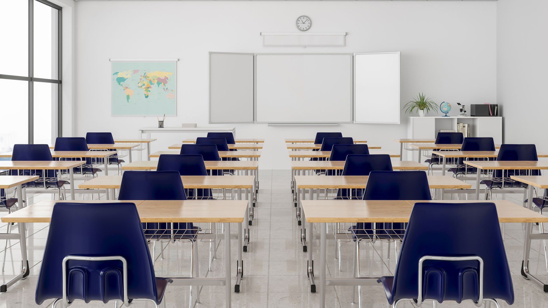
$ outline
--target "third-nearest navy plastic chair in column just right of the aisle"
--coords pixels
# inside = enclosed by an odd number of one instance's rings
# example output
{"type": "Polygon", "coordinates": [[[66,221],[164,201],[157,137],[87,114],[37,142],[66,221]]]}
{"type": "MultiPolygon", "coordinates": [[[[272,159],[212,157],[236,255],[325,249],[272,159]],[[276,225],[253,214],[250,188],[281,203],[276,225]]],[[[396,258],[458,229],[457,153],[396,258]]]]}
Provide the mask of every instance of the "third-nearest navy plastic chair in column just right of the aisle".
{"type": "MultiPolygon", "coordinates": [[[[340,145],[335,145],[340,146],[340,145]]],[[[333,149],[335,149],[333,146],[333,149]]],[[[341,175],[369,175],[372,171],[392,171],[392,161],[387,154],[346,156],[343,173],[341,175]]],[[[339,189],[336,199],[361,200],[363,189],[339,189]]]]}

